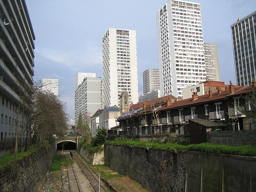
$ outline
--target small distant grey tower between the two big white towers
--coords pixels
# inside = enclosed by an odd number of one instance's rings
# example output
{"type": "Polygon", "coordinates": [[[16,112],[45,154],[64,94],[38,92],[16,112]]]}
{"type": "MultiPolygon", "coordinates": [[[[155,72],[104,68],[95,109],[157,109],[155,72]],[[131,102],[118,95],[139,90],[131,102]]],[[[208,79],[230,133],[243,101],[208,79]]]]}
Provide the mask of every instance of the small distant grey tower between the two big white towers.
{"type": "Polygon", "coordinates": [[[143,72],[143,94],[160,90],[159,69],[147,69],[143,72]]]}

